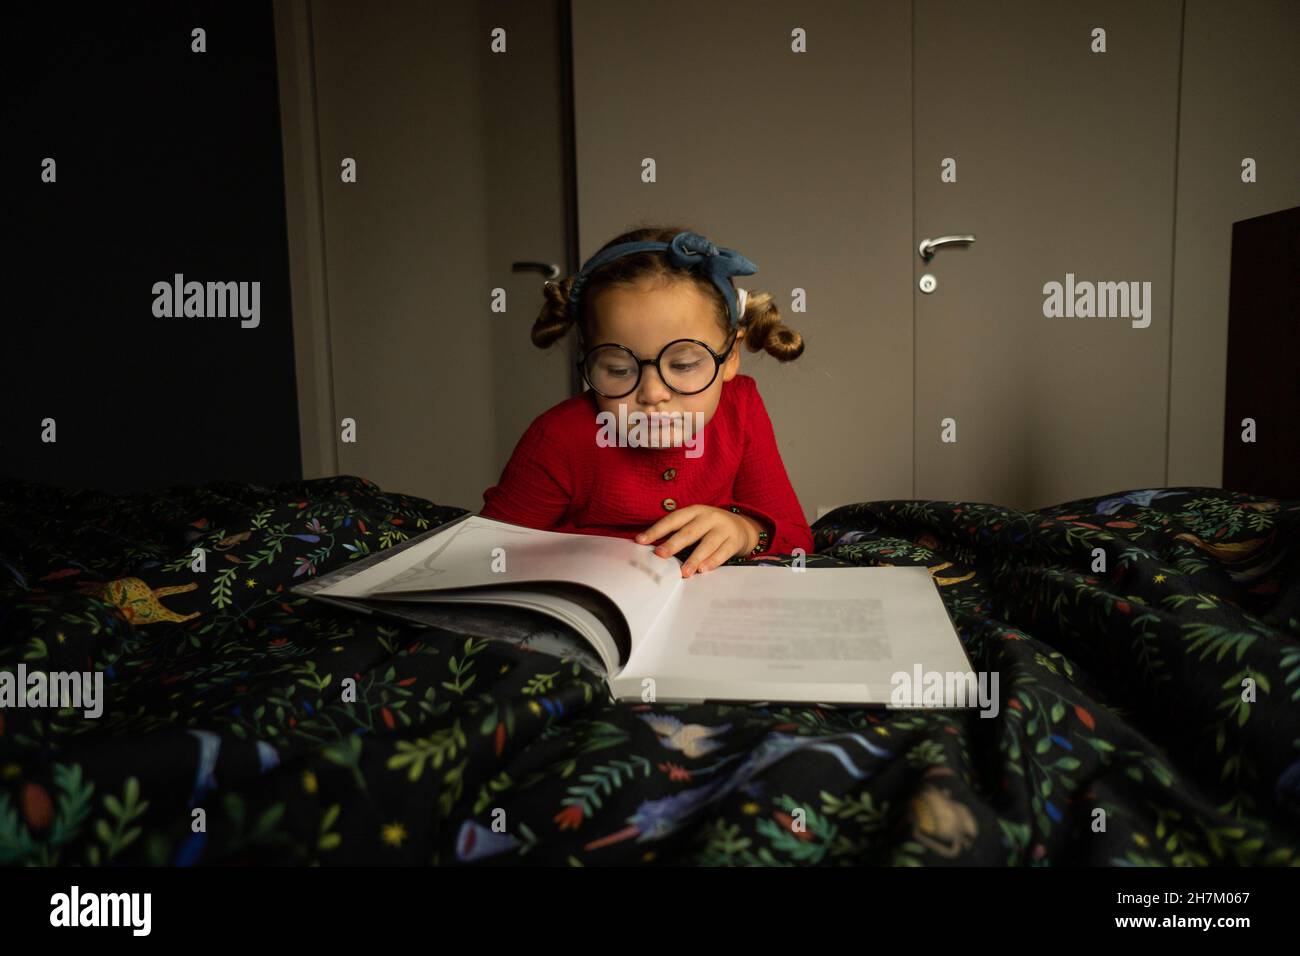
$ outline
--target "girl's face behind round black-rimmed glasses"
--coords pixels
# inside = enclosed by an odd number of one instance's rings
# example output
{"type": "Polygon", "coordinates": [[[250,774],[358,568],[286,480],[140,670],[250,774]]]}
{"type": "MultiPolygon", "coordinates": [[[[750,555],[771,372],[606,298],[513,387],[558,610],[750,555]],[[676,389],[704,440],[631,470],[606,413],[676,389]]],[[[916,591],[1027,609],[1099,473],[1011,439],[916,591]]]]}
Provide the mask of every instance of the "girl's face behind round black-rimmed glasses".
{"type": "MultiPolygon", "coordinates": [[[[724,332],[714,315],[714,304],[694,284],[670,281],[659,285],[641,284],[636,287],[615,286],[598,293],[592,302],[592,341],[598,345],[621,345],[636,352],[638,359],[653,359],[677,338],[696,338],[718,355],[725,351],[729,333],[724,332]]],[[[667,356],[664,358],[667,363],[667,356]]],[[[718,377],[703,392],[681,395],[663,384],[654,365],[641,371],[637,388],[623,398],[604,398],[593,394],[601,411],[618,416],[619,406],[628,412],[685,412],[692,421],[699,421],[696,412],[703,412],[703,424],[718,410],[723,382],[731,381],[740,371],[740,343],[732,346],[731,355],[718,369],[718,377]]]]}

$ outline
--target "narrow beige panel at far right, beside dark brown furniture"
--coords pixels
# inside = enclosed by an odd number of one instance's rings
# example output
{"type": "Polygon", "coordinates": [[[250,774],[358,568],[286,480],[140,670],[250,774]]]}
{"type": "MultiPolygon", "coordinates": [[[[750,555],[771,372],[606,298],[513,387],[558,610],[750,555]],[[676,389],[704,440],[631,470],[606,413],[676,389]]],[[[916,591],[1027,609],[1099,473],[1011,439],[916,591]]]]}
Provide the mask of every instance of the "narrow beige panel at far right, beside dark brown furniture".
{"type": "Polygon", "coordinates": [[[1300,206],[1300,4],[1188,0],[1183,36],[1167,484],[1219,486],[1232,222],[1300,206]]]}

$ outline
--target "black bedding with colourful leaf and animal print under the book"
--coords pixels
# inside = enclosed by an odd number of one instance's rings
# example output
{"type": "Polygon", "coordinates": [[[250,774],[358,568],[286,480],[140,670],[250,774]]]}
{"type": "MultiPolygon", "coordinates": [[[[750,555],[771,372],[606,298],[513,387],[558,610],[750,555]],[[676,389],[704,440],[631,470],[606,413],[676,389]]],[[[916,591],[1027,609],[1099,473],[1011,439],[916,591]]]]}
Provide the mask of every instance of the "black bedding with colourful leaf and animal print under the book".
{"type": "Polygon", "coordinates": [[[287,593],[458,514],[352,476],[0,481],[0,676],[104,682],[94,718],[0,688],[0,864],[1300,860],[1300,502],[1167,488],[818,520],[810,567],[930,568],[1000,676],[992,718],[612,704],[543,624],[287,593]]]}

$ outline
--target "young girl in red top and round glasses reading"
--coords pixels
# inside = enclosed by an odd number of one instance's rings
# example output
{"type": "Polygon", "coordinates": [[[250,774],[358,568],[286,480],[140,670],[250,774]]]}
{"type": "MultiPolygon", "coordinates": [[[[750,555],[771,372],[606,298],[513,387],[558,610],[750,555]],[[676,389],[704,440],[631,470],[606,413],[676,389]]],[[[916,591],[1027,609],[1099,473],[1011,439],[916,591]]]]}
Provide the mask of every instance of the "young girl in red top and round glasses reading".
{"type": "Polygon", "coordinates": [[[767,408],[738,373],[741,343],[780,362],[803,352],[771,295],[733,285],[757,271],[698,233],[649,228],[547,282],[533,343],[545,349],[575,326],[590,390],[533,420],[481,514],[659,542],[659,557],[682,551],[682,578],[736,555],[810,553],[767,408]],[[658,441],[634,428],[608,441],[611,421],[638,415],[659,425],[649,429],[658,441]]]}

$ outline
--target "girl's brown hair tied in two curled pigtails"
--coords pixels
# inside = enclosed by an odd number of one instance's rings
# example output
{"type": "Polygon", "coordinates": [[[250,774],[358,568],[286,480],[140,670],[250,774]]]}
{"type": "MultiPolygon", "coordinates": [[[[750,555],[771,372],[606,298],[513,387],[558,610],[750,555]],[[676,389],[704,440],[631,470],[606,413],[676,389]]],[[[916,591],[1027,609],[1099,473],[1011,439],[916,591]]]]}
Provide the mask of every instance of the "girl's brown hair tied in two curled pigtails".
{"type": "MultiPolygon", "coordinates": [[[[646,226],[633,229],[614,237],[599,251],[624,242],[672,242],[672,237],[685,229],[688,228],[646,226]]],[[[718,287],[692,269],[675,265],[663,251],[632,252],[592,272],[582,285],[582,294],[577,303],[580,315],[576,316],[569,308],[569,290],[573,287],[575,278],[576,276],[568,276],[542,286],[542,295],[546,300],[537,313],[532,332],[533,345],[538,349],[554,345],[573,325],[577,325],[578,334],[584,341],[589,341],[592,328],[589,303],[595,294],[602,289],[634,285],[644,280],[694,282],[696,287],[712,300],[719,326],[724,332],[731,332],[727,299],[718,287]]],[[[748,294],[745,313],[740,317],[740,334],[738,341],[742,341],[751,352],[762,349],[777,362],[793,362],[803,354],[803,337],[781,323],[781,313],[770,293],[748,294]]]]}

